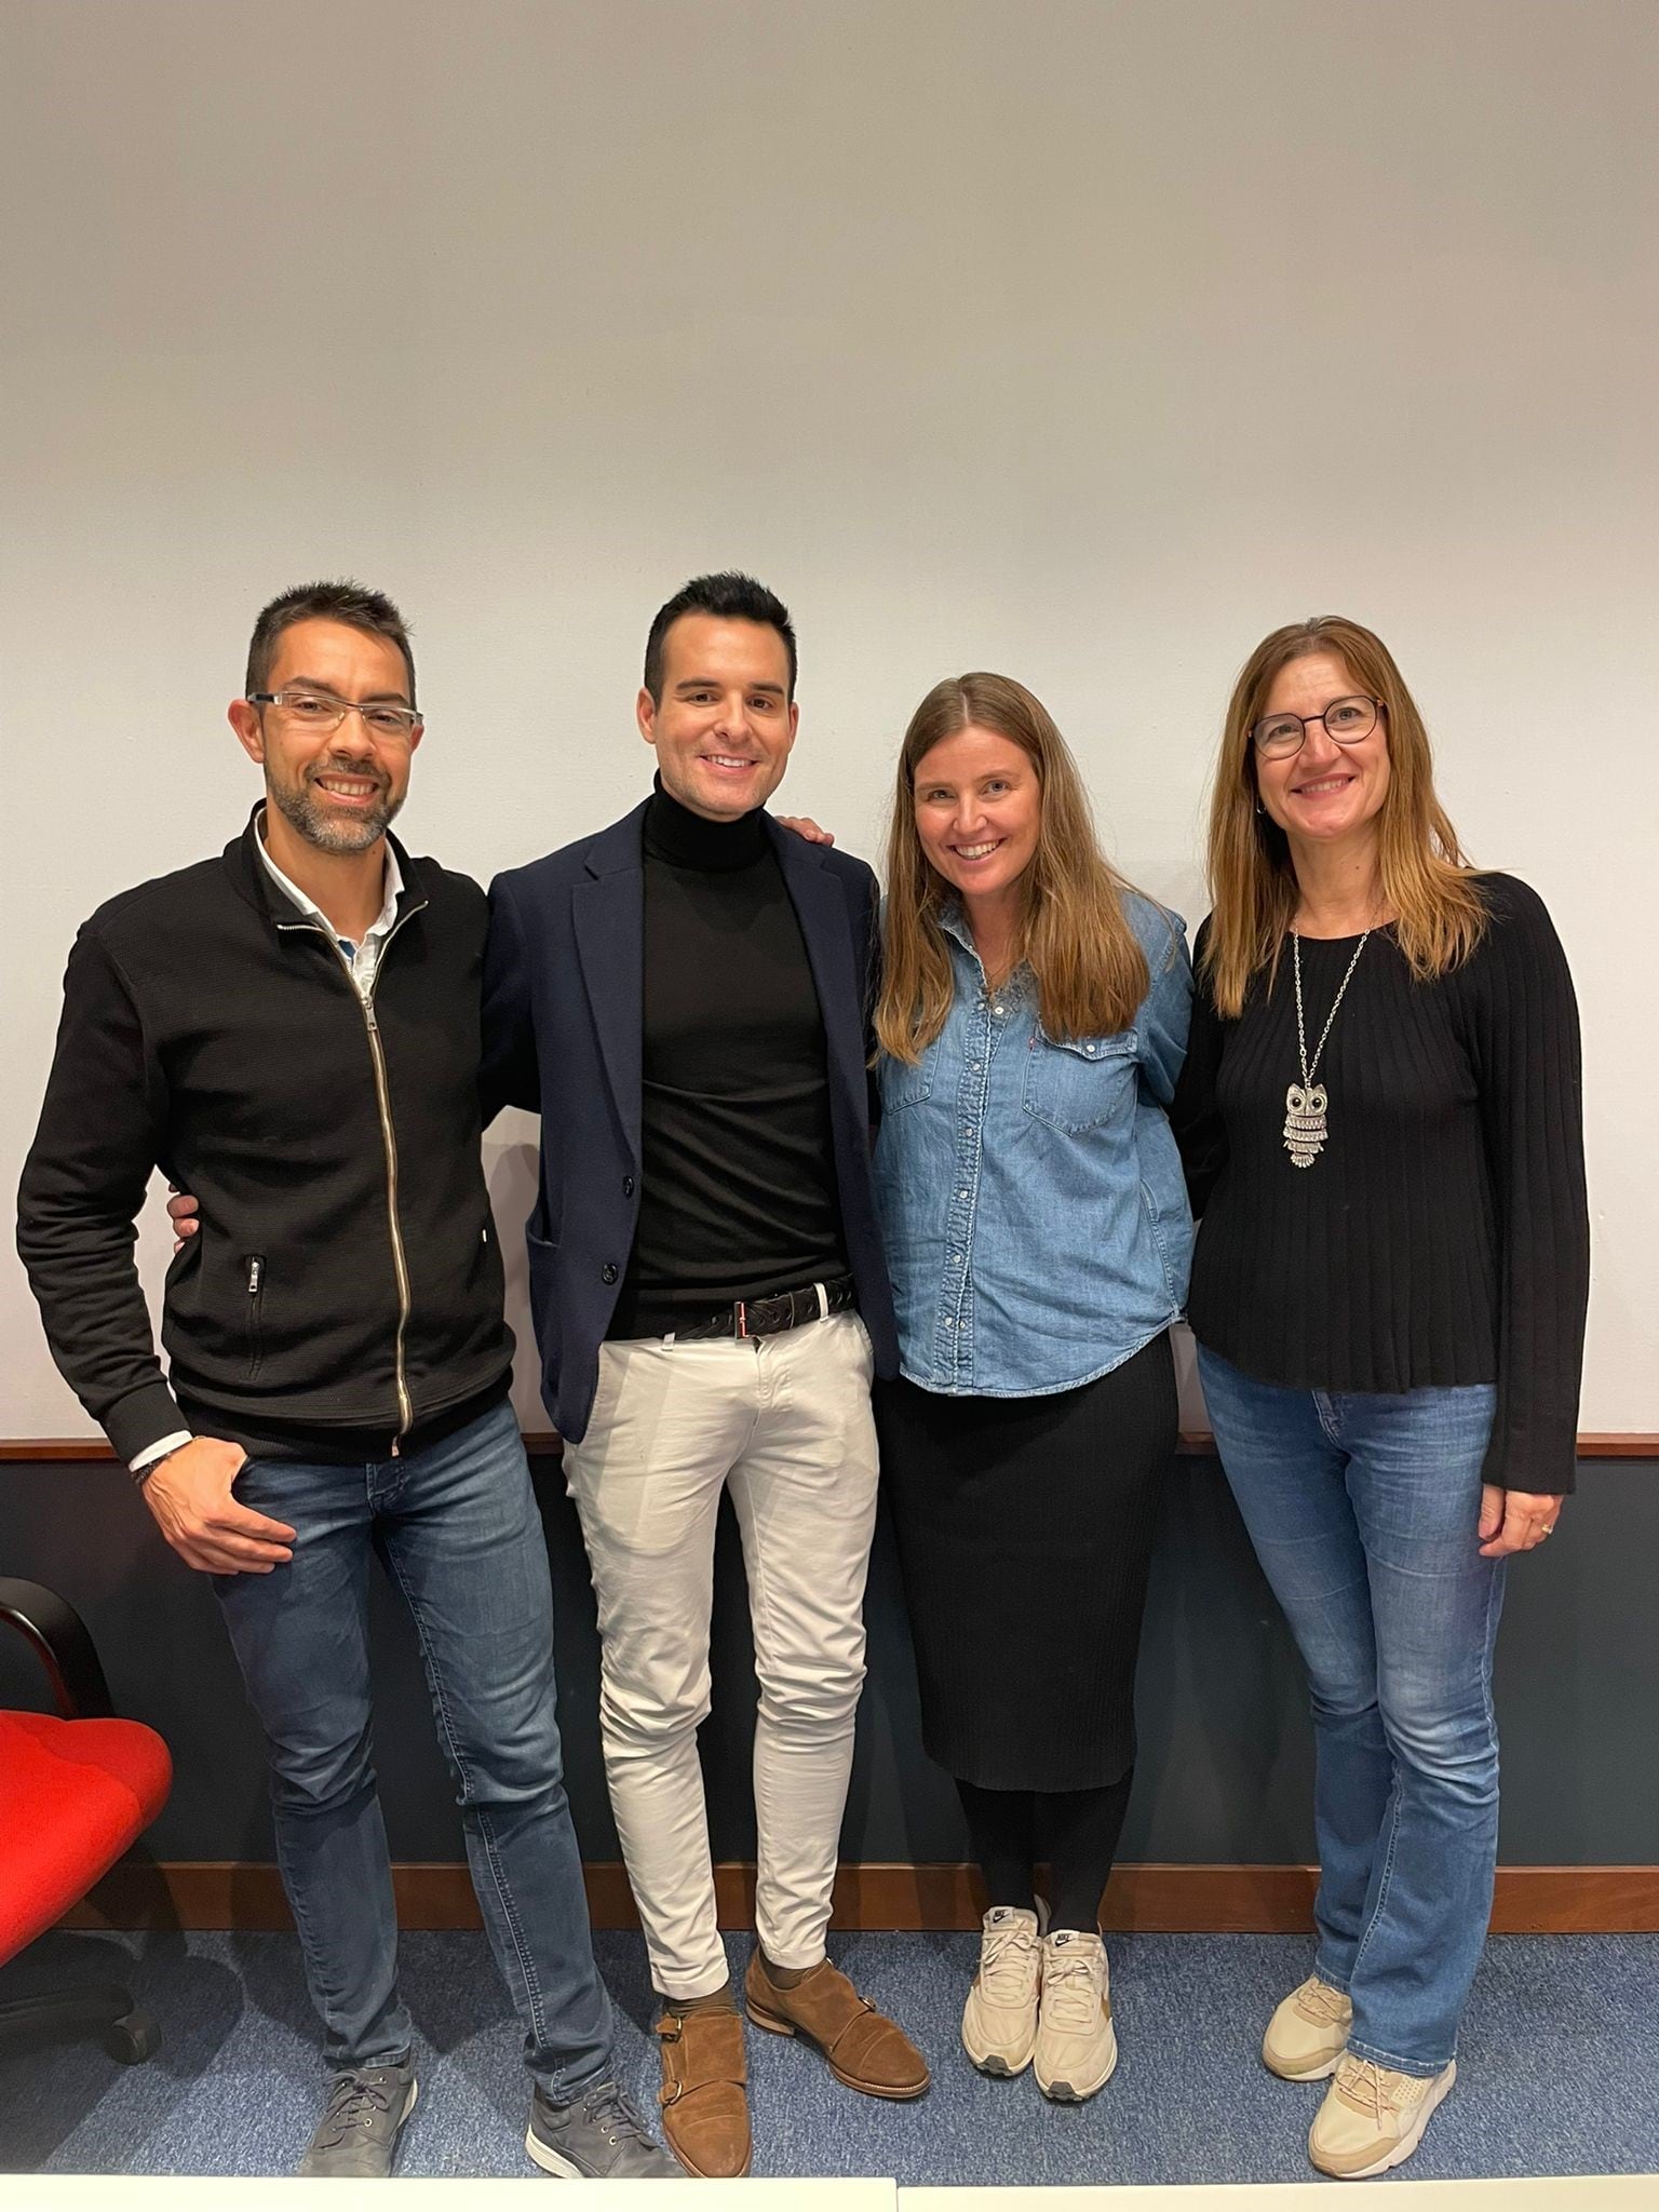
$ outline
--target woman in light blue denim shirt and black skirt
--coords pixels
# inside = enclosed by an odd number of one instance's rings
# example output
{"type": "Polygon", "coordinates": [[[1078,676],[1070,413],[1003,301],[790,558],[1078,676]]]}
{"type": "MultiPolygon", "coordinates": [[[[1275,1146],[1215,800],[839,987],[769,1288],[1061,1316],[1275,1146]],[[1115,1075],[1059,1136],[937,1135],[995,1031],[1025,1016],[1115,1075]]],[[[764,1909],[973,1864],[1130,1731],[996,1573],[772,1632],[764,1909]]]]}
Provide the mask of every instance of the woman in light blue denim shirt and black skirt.
{"type": "Polygon", "coordinates": [[[1104,860],[1042,703],[995,675],[936,686],[905,734],[883,949],[902,1378],[876,1418],[922,1739],[991,1900],[962,2044],[1075,2101],[1117,2064],[1097,1911],[1177,1431],[1192,971],[1179,916],[1104,860]]]}

